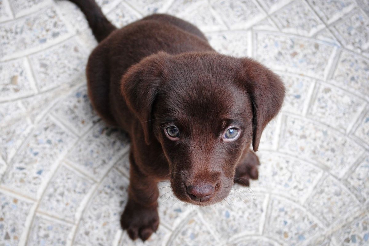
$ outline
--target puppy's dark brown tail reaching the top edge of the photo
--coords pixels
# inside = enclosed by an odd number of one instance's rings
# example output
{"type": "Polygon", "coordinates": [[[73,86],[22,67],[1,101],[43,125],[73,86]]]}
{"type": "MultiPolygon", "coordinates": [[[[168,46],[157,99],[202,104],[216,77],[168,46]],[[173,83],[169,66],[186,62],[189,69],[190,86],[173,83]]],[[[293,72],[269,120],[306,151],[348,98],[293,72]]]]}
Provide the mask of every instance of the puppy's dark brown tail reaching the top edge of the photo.
{"type": "Polygon", "coordinates": [[[97,42],[103,41],[104,38],[117,29],[101,11],[100,7],[94,0],[69,0],[75,3],[83,14],[85,14],[92,33],[97,42]]]}

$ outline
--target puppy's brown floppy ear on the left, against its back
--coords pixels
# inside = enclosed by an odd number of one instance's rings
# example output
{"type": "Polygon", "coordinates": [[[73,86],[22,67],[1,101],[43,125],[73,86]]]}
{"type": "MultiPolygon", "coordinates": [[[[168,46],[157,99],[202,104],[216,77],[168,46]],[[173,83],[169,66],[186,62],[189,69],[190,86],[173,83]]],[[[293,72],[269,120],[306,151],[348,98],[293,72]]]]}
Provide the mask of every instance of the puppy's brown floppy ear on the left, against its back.
{"type": "Polygon", "coordinates": [[[148,56],[131,66],[121,79],[121,93],[141,123],[147,144],[150,143],[152,105],[162,85],[165,60],[169,56],[165,52],[148,56]]]}

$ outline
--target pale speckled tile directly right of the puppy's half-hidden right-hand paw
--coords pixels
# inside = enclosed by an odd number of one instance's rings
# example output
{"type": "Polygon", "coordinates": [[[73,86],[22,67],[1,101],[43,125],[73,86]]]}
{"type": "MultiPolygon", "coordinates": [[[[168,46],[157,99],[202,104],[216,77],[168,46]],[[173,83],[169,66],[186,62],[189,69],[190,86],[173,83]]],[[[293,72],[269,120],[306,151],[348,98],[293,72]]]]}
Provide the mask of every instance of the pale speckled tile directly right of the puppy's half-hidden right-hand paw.
{"type": "Polygon", "coordinates": [[[270,193],[284,194],[291,200],[302,202],[314,183],[323,174],[316,166],[294,157],[268,151],[258,152],[259,179],[251,187],[270,193]]]}

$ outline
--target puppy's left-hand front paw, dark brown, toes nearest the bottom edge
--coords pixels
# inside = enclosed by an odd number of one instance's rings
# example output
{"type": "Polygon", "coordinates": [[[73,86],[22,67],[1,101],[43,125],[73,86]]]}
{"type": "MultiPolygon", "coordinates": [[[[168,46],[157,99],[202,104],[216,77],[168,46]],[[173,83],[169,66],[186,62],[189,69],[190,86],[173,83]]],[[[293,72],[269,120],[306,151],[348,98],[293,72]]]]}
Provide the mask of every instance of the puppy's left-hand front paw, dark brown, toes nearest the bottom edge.
{"type": "Polygon", "coordinates": [[[158,229],[157,205],[144,207],[129,200],[120,218],[120,224],[124,230],[127,230],[132,240],[139,237],[145,241],[158,229]]]}

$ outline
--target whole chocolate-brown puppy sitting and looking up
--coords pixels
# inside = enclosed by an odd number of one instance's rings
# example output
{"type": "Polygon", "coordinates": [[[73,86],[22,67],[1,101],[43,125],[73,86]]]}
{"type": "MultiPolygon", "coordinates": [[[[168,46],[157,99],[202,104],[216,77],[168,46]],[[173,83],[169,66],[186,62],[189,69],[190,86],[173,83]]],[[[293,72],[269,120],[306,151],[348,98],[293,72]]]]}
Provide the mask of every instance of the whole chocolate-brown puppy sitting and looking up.
{"type": "Polygon", "coordinates": [[[194,25],[154,14],[117,29],[93,0],[70,0],[86,15],[99,45],[86,74],[94,109],[128,132],[130,186],[121,225],[131,239],[156,231],[157,183],[176,197],[209,205],[232,185],[258,178],[266,124],[278,113],[284,86],[249,58],[214,51],[194,25]]]}

